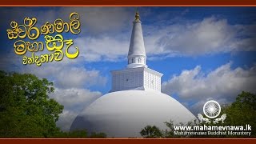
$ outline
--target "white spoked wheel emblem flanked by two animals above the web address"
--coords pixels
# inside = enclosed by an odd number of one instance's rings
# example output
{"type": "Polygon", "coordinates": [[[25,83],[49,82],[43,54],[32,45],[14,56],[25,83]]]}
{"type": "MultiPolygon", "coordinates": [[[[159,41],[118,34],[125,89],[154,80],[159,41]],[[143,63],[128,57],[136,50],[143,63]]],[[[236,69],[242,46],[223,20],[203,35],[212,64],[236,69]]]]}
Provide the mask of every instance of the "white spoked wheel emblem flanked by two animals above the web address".
{"type": "Polygon", "coordinates": [[[226,114],[222,114],[220,118],[216,118],[218,117],[218,115],[221,113],[221,110],[222,110],[221,106],[216,101],[211,100],[206,102],[205,105],[202,107],[202,110],[203,110],[203,113],[208,118],[203,118],[202,114],[198,114],[198,119],[200,123],[202,122],[210,123],[211,120],[209,118],[215,118],[214,124],[220,121],[224,123],[224,120],[226,119],[226,114]]]}

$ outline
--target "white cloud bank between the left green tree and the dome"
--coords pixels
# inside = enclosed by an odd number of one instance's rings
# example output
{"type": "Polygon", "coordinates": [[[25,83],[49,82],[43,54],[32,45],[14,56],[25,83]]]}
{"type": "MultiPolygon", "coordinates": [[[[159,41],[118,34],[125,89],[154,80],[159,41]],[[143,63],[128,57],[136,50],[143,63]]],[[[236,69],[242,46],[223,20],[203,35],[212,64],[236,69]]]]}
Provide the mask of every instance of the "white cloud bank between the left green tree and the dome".
{"type": "Polygon", "coordinates": [[[62,62],[44,63],[42,66],[22,65],[22,59],[13,53],[7,54],[0,62],[2,70],[35,74],[38,78],[54,81],[54,93],[50,98],[64,106],[57,122],[62,130],[69,130],[79,112],[99,98],[102,93],[91,91],[90,86],[105,86],[106,77],[98,70],[86,70],[82,57],[63,59],[62,62]],[[13,61],[9,61],[12,59],[13,61]],[[7,65],[8,64],[8,65],[7,65]],[[10,67],[11,66],[11,67],[10,67]]]}

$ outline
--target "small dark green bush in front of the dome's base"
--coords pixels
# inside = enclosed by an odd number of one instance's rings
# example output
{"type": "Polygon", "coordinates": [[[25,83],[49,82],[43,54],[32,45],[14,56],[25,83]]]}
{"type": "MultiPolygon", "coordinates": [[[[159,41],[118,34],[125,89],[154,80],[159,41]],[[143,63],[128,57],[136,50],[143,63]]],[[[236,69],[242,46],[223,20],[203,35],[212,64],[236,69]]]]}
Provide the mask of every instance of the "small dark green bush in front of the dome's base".
{"type": "Polygon", "coordinates": [[[157,126],[146,126],[140,131],[143,138],[161,138],[162,131],[157,126]]]}

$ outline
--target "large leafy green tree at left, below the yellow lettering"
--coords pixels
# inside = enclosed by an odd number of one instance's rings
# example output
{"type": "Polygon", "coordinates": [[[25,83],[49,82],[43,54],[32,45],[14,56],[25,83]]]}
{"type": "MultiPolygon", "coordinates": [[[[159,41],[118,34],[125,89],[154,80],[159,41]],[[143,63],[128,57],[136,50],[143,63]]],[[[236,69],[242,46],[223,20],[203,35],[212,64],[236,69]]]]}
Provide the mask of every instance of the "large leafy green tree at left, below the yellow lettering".
{"type": "Polygon", "coordinates": [[[0,137],[54,137],[63,106],[49,98],[51,92],[53,82],[46,78],[0,71],[0,137]]]}

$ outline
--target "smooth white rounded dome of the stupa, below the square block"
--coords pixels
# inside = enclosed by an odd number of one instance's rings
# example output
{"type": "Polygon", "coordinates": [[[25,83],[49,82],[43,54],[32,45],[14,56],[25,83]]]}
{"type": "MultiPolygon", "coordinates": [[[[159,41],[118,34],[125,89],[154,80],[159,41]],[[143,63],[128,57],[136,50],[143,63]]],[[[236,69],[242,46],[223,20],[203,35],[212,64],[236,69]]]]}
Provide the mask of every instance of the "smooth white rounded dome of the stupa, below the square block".
{"type": "Polygon", "coordinates": [[[108,137],[141,137],[147,125],[166,130],[164,122],[194,120],[194,114],[157,90],[122,90],[105,94],[75,118],[70,130],[103,132],[108,137]]]}

